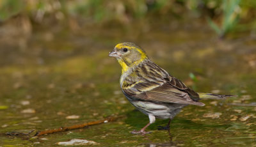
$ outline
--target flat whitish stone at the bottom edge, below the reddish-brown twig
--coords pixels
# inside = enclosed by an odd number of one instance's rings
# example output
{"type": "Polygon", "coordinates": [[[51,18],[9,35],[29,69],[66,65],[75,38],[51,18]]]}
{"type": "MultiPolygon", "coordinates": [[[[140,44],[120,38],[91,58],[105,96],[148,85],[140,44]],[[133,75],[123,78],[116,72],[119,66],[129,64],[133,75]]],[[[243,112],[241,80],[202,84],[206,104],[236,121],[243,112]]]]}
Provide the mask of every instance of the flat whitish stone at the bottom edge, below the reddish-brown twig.
{"type": "Polygon", "coordinates": [[[95,141],[88,141],[85,139],[71,139],[70,141],[66,141],[66,142],[58,142],[57,144],[61,146],[75,146],[75,145],[95,145],[99,143],[96,143],[95,141]]]}

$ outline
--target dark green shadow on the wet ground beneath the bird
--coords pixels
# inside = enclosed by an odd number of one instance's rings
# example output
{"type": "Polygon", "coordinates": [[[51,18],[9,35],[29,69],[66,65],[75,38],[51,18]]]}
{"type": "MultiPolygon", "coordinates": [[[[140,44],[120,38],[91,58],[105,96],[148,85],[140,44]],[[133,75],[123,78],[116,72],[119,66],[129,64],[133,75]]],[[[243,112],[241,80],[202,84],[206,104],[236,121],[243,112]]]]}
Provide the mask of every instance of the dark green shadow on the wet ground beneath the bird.
{"type": "MultiPolygon", "coordinates": [[[[126,112],[127,118],[124,120],[126,124],[131,125],[135,130],[140,130],[149,122],[148,116],[134,109],[126,112]]],[[[169,120],[157,119],[155,123],[150,125],[147,130],[157,130],[159,126],[166,126],[169,120]]],[[[186,120],[183,118],[175,117],[171,124],[170,129],[196,129],[196,130],[208,130],[209,128],[225,129],[230,127],[230,124],[209,124],[209,123],[197,123],[195,121],[186,120]]],[[[172,132],[173,134],[173,132],[172,132]]]]}

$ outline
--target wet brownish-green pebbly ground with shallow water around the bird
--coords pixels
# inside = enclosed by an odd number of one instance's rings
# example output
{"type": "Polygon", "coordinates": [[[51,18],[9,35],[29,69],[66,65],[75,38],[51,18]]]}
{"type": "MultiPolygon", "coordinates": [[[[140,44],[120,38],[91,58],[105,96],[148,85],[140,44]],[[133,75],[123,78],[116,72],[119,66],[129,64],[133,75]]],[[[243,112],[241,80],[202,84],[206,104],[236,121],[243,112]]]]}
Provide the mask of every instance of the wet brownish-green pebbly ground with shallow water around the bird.
{"type": "Polygon", "coordinates": [[[59,146],[71,139],[95,141],[95,146],[255,146],[256,40],[249,33],[220,41],[208,26],[170,22],[76,32],[34,26],[28,40],[1,38],[0,146],[59,146]],[[238,97],[185,107],[170,134],[157,130],[168,120],[157,120],[148,127],[151,134],[133,135],[131,130],[148,118],[120,91],[121,68],[108,57],[120,42],[138,43],[152,61],[195,91],[238,97]],[[41,137],[6,135],[111,115],[122,117],[41,137]]]}

